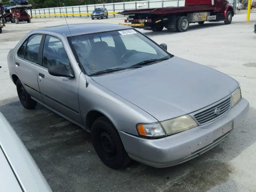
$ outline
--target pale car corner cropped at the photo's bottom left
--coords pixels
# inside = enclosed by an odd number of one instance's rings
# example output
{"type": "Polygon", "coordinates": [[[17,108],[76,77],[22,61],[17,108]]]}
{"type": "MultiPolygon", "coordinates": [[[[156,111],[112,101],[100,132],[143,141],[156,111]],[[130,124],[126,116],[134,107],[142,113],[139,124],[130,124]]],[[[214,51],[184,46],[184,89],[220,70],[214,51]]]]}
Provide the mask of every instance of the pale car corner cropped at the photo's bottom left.
{"type": "Polygon", "coordinates": [[[51,192],[28,150],[0,113],[0,191],[51,192]]]}

